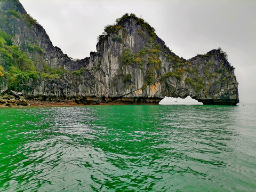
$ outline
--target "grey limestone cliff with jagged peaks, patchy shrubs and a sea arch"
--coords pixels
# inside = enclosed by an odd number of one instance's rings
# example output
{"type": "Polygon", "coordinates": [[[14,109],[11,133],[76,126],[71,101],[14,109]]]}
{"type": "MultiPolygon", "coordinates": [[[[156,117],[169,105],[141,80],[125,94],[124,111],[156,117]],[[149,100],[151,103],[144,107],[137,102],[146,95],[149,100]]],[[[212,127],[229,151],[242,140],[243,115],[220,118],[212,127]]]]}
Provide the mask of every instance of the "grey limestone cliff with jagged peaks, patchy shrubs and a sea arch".
{"type": "MultiPolygon", "coordinates": [[[[166,47],[154,28],[134,14],[125,14],[114,26],[106,26],[97,52],[74,61],[52,45],[43,27],[29,17],[19,1],[2,0],[0,6],[0,28],[36,66],[37,76],[20,82],[18,91],[27,97],[157,103],[165,96],[190,95],[204,104],[239,102],[234,67],[221,49],[189,60],[180,58],[166,47]]],[[[4,61],[0,65],[10,75],[10,65],[4,61]]],[[[7,85],[4,79],[0,79],[2,91],[7,85]]]]}

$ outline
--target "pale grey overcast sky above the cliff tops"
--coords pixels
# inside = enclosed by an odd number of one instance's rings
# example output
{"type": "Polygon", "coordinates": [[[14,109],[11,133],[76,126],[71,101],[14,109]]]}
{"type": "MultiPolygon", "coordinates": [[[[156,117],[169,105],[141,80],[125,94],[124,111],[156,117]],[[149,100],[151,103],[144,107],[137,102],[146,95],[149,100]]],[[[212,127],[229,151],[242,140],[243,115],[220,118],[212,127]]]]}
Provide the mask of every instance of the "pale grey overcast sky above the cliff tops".
{"type": "Polygon", "coordinates": [[[96,51],[104,26],[135,13],[180,57],[189,59],[221,47],[239,83],[241,102],[256,103],[256,1],[20,0],[69,57],[96,51]]]}

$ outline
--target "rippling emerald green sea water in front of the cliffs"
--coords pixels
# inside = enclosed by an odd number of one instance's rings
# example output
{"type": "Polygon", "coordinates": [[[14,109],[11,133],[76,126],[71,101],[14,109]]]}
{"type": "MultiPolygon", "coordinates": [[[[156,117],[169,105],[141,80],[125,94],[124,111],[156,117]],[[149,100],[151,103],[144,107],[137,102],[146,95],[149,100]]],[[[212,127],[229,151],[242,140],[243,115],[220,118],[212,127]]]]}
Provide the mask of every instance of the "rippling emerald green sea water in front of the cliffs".
{"type": "Polygon", "coordinates": [[[255,190],[255,105],[0,108],[0,191],[255,190]]]}

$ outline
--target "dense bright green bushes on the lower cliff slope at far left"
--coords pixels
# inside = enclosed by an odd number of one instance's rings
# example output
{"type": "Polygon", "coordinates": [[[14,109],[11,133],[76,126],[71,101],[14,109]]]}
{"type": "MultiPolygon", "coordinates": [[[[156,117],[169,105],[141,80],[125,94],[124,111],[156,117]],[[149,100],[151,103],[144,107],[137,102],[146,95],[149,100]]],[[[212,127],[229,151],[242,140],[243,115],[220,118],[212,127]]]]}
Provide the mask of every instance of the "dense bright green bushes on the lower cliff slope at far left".
{"type": "MultiPolygon", "coordinates": [[[[36,45],[29,45],[28,49],[42,52],[36,45]]],[[[21,51],[19,46],[12,44],[12,36],[6,35],[0,29],[0,76],[6,76],[9,81],[8,89],[15,91],[29,90],[28,81],[33,81],[39,77],[44,79],[61,78],[64,73],[69,73],[63,67],[52,69],[43,64],[44,71],[39,73],[33,61],[28,57],[27,52],[21,51]]]]}

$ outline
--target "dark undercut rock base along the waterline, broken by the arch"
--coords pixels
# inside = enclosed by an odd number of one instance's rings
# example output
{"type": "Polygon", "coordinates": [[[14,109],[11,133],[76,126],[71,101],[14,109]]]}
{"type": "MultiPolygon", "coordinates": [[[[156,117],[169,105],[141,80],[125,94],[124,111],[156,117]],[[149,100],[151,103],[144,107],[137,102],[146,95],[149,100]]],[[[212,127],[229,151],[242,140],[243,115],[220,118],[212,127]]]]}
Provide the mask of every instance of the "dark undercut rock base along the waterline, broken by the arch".
{"type": "MultiPolygon", "coordinates": [[[[123,97],[82,97],[58,99],[49,97],[24,97],[23,95],[0,95],[0,106],[77,106],[77,105],[158,105],[163,98],[123,98],[123,97]]],[[[197,99],[204,105],[236,106],[235,99],[197,99]]]]}

